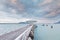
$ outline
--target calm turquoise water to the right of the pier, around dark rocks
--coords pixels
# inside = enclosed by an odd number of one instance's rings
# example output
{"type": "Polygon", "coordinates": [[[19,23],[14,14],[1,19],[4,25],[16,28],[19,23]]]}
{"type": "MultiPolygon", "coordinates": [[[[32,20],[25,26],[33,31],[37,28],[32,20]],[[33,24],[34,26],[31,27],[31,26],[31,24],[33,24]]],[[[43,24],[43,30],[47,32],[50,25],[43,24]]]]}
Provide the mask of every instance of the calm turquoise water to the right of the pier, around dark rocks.
{"type": "Polygon", "coordinates": [[[34,40],[60,40],[60,24],[37,24],[37,26],[34,40]]]}

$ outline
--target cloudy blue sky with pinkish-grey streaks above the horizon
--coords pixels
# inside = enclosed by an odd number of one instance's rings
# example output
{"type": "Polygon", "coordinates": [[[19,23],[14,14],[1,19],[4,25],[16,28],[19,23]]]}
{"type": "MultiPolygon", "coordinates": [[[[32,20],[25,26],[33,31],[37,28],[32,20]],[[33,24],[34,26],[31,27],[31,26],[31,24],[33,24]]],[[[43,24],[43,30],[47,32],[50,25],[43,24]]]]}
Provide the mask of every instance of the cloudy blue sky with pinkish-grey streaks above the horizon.
{"type": "Polygon", "coordinates": [[[0,23],[60,21],[60,0],[0,0],[0,23]]]}

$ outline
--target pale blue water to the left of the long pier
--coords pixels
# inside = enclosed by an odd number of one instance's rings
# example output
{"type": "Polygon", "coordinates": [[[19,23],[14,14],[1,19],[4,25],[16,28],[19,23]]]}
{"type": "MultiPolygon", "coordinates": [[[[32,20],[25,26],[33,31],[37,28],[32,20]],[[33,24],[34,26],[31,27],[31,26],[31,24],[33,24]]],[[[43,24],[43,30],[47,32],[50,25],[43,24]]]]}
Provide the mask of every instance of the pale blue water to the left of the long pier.
{"type": "Polygon", "coordinates": [[[0,35],[25,27],[28,24],[0,24],[0,35]]]}

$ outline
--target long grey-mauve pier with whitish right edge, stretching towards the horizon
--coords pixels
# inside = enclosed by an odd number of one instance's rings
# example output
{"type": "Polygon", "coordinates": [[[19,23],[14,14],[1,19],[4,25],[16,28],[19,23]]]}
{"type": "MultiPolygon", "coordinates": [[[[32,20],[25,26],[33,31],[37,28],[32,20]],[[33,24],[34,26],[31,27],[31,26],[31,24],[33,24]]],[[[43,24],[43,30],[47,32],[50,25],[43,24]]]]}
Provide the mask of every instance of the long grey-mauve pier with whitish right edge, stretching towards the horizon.
{"type": "Polygon", "coordinates": [[[0,40],[27,40],[33,25],[20,28],[0,36],[0,40]]]}

